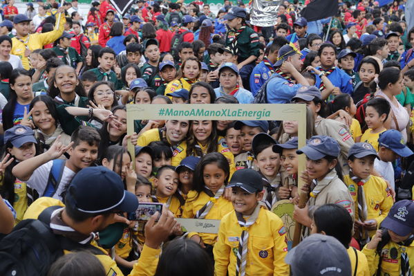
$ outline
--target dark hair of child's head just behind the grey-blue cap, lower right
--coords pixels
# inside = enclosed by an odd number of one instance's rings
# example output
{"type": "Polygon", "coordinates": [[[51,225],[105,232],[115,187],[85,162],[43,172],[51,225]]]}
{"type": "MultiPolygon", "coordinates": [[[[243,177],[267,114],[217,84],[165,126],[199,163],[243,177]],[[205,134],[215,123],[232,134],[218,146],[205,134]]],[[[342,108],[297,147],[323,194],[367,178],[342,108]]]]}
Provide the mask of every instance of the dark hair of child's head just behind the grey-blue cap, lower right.
{"type": "Polygon", "coordinates": [[[318,232],[335,237],[345,248],[349,248],[352,239],[353,222],[349,212],[337,204],[325,204],[317,208],[313,220],[318,232]]]}

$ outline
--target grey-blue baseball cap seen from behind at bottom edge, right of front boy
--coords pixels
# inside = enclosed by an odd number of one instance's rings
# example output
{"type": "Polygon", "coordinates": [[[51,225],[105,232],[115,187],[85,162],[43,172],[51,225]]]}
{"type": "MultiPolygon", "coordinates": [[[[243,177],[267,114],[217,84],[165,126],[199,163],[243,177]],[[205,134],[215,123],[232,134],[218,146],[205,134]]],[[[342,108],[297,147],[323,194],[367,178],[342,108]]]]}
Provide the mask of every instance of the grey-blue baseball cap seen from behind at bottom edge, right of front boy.
{"type": "Polygon", "coordinates": [[[294,276],[350,276],[348,252],[336,238],[311,234],[285,257],[294,276]]]}

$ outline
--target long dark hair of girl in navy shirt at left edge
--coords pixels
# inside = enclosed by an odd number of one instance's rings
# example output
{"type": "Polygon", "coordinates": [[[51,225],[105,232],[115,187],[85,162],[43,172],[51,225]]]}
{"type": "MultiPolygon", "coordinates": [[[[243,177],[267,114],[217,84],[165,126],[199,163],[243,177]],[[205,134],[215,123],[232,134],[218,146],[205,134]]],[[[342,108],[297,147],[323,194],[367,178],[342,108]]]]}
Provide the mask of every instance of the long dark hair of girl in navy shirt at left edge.
{"type": "MultiPolygon", "coordinates": [[[[17,68],[10,74],[9,84],[15,85],[16,80],[20,76],[28,76],[32,80],[30,73],[24,69],[17,68]]],[[[15,114],[15,108],[17,103],[17,94],[10,86],[10,98],[8,103],[3,108],[3,131],[6,131],[13,127],[13,116],[15,114]]]]}

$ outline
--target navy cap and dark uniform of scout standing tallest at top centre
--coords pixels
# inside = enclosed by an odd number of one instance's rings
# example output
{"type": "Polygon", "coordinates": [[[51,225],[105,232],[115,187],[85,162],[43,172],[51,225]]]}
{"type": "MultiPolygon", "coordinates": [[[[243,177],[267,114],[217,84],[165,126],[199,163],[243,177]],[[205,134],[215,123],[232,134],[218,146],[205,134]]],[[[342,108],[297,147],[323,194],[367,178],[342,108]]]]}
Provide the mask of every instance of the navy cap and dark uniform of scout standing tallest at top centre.
{"type": "MultiPolygon", "coordinates": [[[[232,20],[236,17],[246,18],[246,11],[240,7],[233,7],[225,15],[225,20],[232,20]]],[[[238,63],[245,61],[248,57],[254,55],[258,57],[259,42],[258,35],[252,28],[241,26],[238,30],[228,30],[225,37],[225,46],[234,48],[238,63]]]]}

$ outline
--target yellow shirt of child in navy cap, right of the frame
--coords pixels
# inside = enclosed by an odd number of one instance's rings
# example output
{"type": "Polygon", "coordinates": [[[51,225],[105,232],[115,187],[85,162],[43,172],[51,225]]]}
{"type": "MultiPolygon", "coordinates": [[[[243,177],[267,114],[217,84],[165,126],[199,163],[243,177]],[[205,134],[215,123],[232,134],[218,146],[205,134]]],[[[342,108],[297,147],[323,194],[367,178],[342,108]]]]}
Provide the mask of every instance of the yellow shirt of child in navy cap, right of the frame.
{"type": "MultiPolygon", "coordinates": [[[[357,197],[359,186],[352,181],[349,175],[344,176],[344,183],[348,186],[348,191],[354,200],[355,206],[358,206],[357,197]]],[[[373,175],[364,184],[364,194],[366,208],[368,210],[367,221],[375,219],[377,226],[379,226],[394,204],[393,196],[388,191],[386,182],[381,177],[373,175]]],[[[358,218],[358,208],[355,208],[355,219],[358,218]]],[[[370,237],[373,237],[375,230],[368,231],[368,234],[370,237]]]]}

